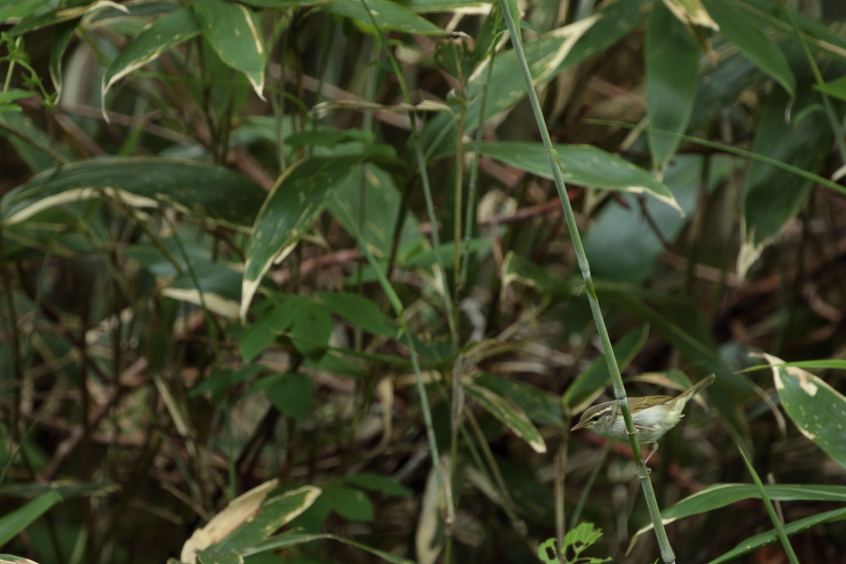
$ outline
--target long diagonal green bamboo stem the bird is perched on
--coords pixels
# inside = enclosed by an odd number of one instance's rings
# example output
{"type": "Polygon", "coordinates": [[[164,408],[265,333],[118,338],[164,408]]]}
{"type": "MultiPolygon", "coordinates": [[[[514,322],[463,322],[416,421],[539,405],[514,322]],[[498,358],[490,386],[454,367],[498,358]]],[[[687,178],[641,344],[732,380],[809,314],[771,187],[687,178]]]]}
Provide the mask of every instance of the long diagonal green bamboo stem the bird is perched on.
{"type": "Polygon", "coordinates": [[[514,52],[517,55],[518,62],[520,64],[523,80],[526,82],[529,102],[532,104],[532,111],[535,113],[537,128],[541,132],[541,137],[544,139],[544,146],[549,156],[549,166],[553,171],[555,188],[558,190],[558,196],[562,202],[564,215],[567,219],[567,228],[570,230],[572,245],[576,253],[576,259],[579,263],[581,276],[585,281],[588,300],[590,301],[590,310],[593,313],[593,319],[596,323],[599,337],[602,341],[602,352],[605,355],[606,362],[608,363],[608,371],[611,373],[611,383],[614,386],[614,397],[617,398],[617,401],[620,404],[620,409],[623,412],[623,419],[626,421],[626,432],[629,435],[629,443],[631,444],[632,452],[635,455],[635,461],[637,461],[637,477],[641,480],[641,485],[644,488],[646,506],[649,508],[649,515],[652,518],[653,525],[655,527],[655,535],[658,537],[658,544],[661,547],[661,557],[666,564],[673,564],[676,561],[676,556],[670,546],[670,540],[667,538],[667,533],[664,531],[664,525],[661,520],[661,511],[658,509],[658,501],[655,499],[653,484],[649,479],[649,473],[648,470],[646,470],[646,465],[643,461],[640,444],[637,443],[637,430],[635,429],[635,423],[632,421],[632,414],[629,411],[628,398],[626,398],[626,388],[623,386],[623,378],[620,376],[617,359],[614,357],[614,350],[611,347],[611,339],[608,336],[608,328],[605,327],[605,320],[602,318],[602,309],[599,308],[597,292],[593,286],[593,279],[590,276],[588,257],[585,255],[584,247],[581,244],[581,236],[579,235],[579,228],[576,225],[576,218],[573,215],[572,205],[567,197],[567,187],[564,184],[561,158],[558,157],[558,153],[553,147],[552,139],[549,137],[549,131],[546,129],[544,113],[537,100],[537,93],[535,92],[532,74],[526,61],[526,55],[523,53],[523,41],[520,38],[517,25],[514,22],[514,17],[509,10],[507,0],[500,0],[500,9],[505,16],[505,22],[509,26],[509,33],[511,34],[511,42],[514,45],[514,52]]]}

